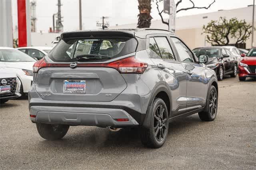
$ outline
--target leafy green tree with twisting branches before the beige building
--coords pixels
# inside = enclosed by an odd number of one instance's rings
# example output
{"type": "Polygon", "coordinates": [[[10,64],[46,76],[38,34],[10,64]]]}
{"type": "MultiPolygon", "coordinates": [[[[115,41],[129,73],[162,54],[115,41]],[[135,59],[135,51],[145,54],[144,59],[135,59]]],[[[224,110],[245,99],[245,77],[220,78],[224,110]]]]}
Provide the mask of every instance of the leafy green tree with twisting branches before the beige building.
{"type": "Polygon", "coordinates": [[[212,45],[228,45],[230,38],[236,39],[236,45],[244,43],[252,34],[252,26],[245,20],[237,18],[220,17],[219,20],[212,20],[203,26],[203,33],[206,34],[206,41],[212,45]]]}

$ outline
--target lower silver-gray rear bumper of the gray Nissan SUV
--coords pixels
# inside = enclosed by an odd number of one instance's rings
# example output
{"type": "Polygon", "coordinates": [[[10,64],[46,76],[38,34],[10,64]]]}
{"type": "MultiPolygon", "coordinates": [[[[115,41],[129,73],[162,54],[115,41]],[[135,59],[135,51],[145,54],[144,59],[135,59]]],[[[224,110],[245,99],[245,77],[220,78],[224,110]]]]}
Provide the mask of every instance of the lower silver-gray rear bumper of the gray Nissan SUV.
{"type": "Polygon", "coordinates": [[[114,108],[31,106],[30,117],[34,123],[67,124],[72,126],[137,126],[138,122],[125,110],[114,108]],[[117,119],[128,119],[118,122],[117,119]]]}

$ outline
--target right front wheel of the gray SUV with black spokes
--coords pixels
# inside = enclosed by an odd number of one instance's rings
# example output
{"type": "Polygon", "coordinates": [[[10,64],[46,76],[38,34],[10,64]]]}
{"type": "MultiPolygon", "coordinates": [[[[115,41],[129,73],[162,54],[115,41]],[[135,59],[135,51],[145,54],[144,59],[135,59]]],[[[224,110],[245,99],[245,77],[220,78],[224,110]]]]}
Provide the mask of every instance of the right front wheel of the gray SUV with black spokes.
{"type": "Polygon", "coordinates": [[[206,102],[206,110],[199,112],[199,118],[202,121],[213,121],[216,118],[218,111],[218,93],[214,86],[211,86],[208,91],[208,97],[206,102]]]}

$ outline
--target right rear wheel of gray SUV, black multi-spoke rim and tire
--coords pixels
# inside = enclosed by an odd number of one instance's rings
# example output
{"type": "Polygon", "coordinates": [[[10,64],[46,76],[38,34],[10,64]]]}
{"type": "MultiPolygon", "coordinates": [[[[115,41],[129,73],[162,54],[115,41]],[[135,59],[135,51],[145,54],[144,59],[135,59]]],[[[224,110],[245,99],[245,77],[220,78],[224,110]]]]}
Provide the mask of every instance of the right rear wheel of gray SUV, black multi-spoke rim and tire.
{"type": "Polygon", "coordinates": [[[169,127],[169,114],[164,101],[156,98],[148,114],[150,116],[150,122],[148,122],[150,128],[142,127],[141,142],[146,147],[160,148],[166,140],[169,127]],[[158,114],[159,112],[162,112],[162,114],[158,114]]]}

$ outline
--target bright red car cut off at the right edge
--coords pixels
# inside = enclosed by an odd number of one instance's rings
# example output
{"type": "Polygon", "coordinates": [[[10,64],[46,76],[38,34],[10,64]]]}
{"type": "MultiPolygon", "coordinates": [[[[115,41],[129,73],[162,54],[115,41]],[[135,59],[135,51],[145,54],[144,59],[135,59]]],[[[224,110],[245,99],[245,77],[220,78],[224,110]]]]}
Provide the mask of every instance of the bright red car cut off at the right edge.
{"type": "Polygon", "coordinates": [[[256,48],[250,49],[245,55],[241,55],[243,60],[238,66],[238,76],[240,81],[245,81],[246,77],[256,78],[256,48]]]}

